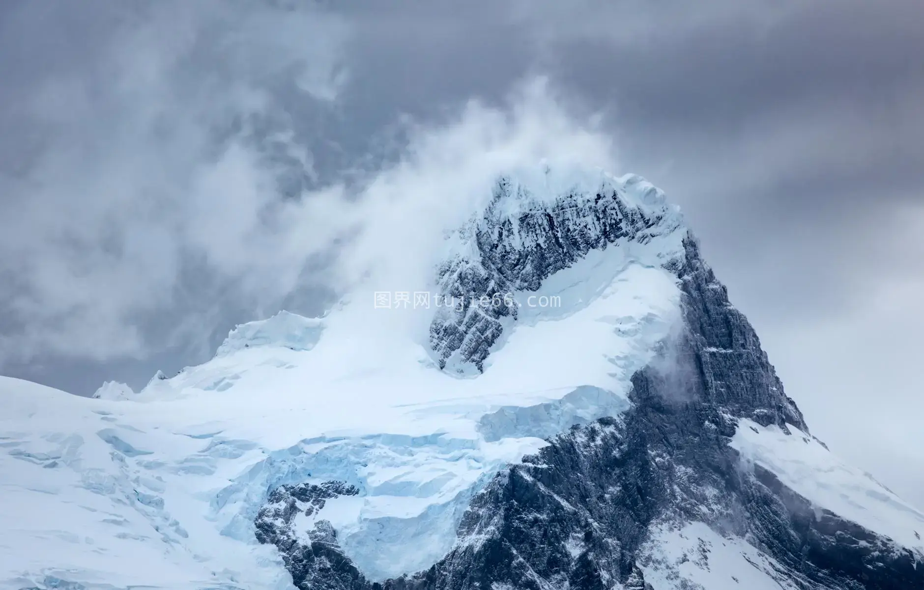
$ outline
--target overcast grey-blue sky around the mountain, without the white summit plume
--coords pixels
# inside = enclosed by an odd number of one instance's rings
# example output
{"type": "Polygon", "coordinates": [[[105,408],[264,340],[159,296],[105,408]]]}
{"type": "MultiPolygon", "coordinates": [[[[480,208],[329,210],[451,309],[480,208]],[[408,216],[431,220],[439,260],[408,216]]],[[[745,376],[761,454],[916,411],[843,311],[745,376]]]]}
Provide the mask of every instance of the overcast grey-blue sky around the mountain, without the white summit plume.
{"type": "Polygon", "coordinates": [[[286,203],[543,76],[681,205],[813,432],[924,506],[921,23],[920,0],[7,0],[0,372],[138,389],[319,311],[335,232],[286,203]]]}

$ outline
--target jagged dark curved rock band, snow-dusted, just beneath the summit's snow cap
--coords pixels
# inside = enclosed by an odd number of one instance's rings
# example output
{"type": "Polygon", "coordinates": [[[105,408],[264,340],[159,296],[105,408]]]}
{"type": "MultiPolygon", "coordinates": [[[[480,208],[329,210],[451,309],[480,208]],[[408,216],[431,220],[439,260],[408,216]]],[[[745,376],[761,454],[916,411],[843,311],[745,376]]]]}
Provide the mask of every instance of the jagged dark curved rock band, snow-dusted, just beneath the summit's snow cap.
{"type": "Polygon", "coordinates": [[[675,231],[678,223],[663,194],[638,176],[623,183],[602,176],[595,187],[575,187],[545,200],[512,178],[501,178],[483,216],[460,232],[468,254],[447,259],[438,270],[443,295],[456,302],[442,307],[430,327],[440,368],[448,363],[460,371],[466,365],[483,370],[504,331],[502,319],[517,317],[509,295],[535,291],[592,249],[646,244],[675,231]],[[626,192],[633,190],[650,207],[630,204],[626,192]]]}

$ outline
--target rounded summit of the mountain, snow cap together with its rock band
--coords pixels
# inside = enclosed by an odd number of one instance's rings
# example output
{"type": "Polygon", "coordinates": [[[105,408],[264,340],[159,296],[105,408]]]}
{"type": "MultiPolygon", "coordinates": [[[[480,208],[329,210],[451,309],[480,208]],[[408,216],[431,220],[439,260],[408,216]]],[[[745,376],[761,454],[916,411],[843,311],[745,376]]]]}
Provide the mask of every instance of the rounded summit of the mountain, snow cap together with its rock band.
{"type": "MultiPolygon", "coordinates": [[[[678,263],[686,236],[679,209],[637,175],[547,164],[501,175],[486,209],[452,236],[438,268],[440,294],[459,305],[432,320],[436,362],[462,375],[483,371],[502,335],[529,311],[520,299],[529,301],[556,273],[571,269],[570,283],[591,295],[630,264],[678,263]],[[602,275],[599,264],[578,264],[595,252],[608,269],[602,275]],[[485,301],[492,303],[478,303],[485,301]]],[[[569,308],[589,301],[568,295],[569,308]]]]}

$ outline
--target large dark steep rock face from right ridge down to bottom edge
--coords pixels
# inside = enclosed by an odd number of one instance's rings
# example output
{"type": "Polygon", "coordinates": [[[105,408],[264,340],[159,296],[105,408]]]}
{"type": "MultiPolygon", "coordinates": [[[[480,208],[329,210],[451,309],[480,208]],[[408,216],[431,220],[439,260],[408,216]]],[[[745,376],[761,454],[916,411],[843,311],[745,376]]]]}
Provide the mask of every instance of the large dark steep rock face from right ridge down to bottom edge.
{"type": "Polygon", "coordinates": [[[748,538],[764,560],[755,567],[783,587],[924,584],[919,554],[813,508],[760,466],[739,468],[729,446],[739,423],[807,429],[747,320],[695,242],[686,246],[687,331],[664,351],[677,362],[638,371],[625,415],[575,427],[497,476],[472,502],[459,546],[394,587],[647,588],[646,576],[678,573],[658,560],[655,528],[690,523],[748,538]]]}

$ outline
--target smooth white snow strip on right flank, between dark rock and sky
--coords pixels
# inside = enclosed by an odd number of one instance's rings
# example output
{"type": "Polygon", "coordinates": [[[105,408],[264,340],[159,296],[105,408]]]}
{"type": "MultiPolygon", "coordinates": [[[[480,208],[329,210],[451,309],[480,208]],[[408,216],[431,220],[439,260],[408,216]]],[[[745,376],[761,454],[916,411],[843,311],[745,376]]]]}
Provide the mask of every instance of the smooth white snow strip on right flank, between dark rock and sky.
{"type": "Polygon", "coordinates": [[[818,439],[792,425],[791,434],[775,425],[742,419],[732,447],[748,464],[759,464],[784,486],[845,520],[915,549],[924,561],[924,513],[882,486],[868,473],[845,464],[818,439]]]}

